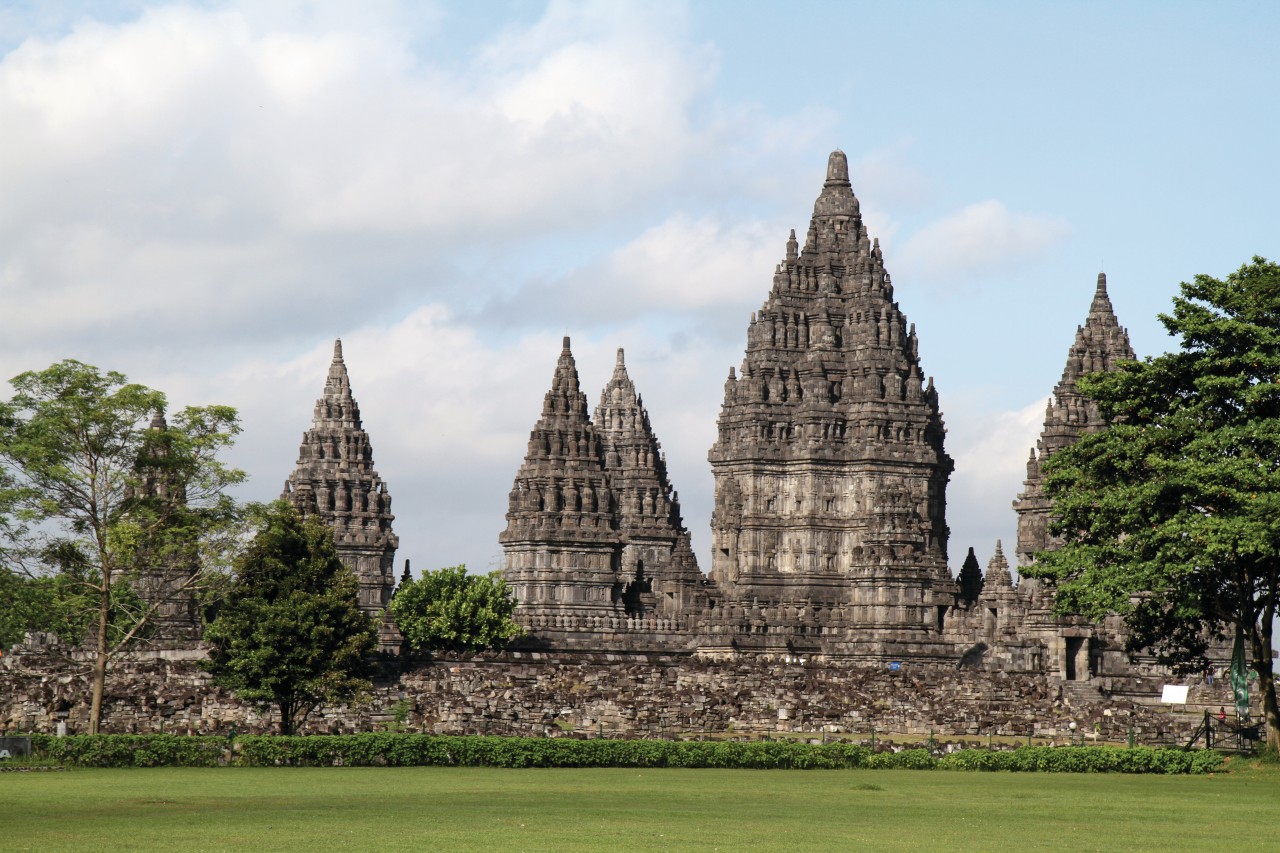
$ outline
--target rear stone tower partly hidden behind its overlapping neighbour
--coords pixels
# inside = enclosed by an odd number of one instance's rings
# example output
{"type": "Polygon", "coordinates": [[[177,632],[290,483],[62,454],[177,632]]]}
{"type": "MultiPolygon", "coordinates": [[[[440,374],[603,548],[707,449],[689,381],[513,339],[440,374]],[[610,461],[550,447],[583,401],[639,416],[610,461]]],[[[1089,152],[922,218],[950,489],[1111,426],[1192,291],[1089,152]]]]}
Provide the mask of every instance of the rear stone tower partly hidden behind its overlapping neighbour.
{"type": "Polygon", "coordinates": [[[694,603],[701,573],[667,479],[667,459],[649,424],[618,350],[613,377],[600,392],[595,428],[618,510],[622,605],[628,615],[673,613],[694,603]]]}

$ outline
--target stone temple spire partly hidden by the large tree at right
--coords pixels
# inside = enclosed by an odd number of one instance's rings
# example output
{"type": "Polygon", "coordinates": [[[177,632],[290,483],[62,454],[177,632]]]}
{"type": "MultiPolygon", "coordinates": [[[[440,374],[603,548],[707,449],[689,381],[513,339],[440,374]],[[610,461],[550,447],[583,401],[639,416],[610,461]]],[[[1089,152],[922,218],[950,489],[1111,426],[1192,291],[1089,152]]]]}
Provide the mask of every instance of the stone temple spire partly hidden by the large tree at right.
{"type": "Polygon", "coordinates": [[[1084,325],[1075,329],[1075,341],[1066,352],[1062,378],[1053,388],[1044,411],[1044,430],[1027,460],[1025,488],[1014,501],[1014,510],[1018,512],[1018,565],[1029,565],[1037,551],[1046,551],[1053,544],[1048,533],[1052,502],[1044,497],[1041,464],[1064,447],[1074,444],[1080,435],[1098,432],[1103,426],[1098,405],[1079,392],[1076,380],[1089,373],[1114,370],[1119,362],[1132,361],[1134,357],[1129,333],[1120,325],[1111,307],[1106,273],[1098,273],[1089,314],[1084,318],[1084,325]]]}

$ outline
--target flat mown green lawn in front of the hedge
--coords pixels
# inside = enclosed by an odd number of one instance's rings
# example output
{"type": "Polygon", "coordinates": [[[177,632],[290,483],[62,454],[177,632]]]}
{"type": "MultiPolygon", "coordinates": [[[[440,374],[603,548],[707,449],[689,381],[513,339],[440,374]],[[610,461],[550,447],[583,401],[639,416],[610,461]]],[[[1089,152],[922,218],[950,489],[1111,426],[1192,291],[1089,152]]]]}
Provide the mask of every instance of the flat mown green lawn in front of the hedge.
{"type": "Polygon", "coordinates": [[[1167,853],[1274,844],[1280,770],[68,770],[0,803],[4,850],[1167,853]]]}

